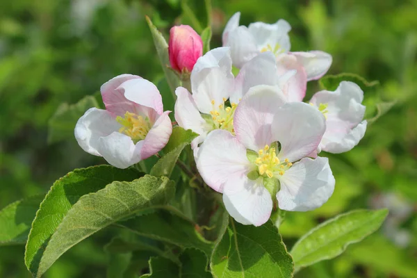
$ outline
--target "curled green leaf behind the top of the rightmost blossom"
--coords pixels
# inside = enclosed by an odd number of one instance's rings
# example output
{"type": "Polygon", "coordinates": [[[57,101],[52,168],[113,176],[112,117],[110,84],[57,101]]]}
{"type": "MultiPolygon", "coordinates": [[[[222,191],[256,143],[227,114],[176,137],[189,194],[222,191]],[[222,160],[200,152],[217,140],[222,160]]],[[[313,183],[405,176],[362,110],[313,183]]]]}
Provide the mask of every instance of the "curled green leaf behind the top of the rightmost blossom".
{"type": "Polygon", "coordinates": [[[379,81],[368,82],[357,74],[342,73],[337,75],[327,75],[320,79],[320,87],[334,91],[341,81],[351,81],[359,85],[363,90],[363,105],[366,106],[365,119],[368,123],[375,122],[379,117],[391,109],[396,101],[383,101],[379,94],[379,81]]]}

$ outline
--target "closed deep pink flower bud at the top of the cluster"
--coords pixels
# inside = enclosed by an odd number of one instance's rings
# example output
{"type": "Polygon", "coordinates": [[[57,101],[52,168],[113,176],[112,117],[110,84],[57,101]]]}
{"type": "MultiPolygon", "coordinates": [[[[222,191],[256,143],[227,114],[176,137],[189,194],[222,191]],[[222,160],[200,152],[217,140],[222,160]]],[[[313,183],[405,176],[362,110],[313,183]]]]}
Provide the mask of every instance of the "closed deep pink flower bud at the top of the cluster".
{"type": "Polygon", "coordinates": [[[188,25],[174,26],[170,30],[168,51],[172,69],[191,72],[203,54],[202,38],[188,25]]]}

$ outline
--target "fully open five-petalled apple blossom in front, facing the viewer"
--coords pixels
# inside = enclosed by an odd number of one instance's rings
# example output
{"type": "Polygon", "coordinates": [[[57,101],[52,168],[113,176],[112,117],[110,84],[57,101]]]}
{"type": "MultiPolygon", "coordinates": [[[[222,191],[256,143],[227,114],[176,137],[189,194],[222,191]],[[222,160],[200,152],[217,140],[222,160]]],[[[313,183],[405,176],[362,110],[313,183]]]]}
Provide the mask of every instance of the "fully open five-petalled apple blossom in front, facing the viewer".
{"type": "Polygon", "coordinates": [[[229,214],[260,226],[274,204],[309,211],[327,202],[334,177],[327,158],[307,158],[325,133],[325,117],[302,102],[286,102],[276,86],[259,85],[236,108],[236,136],[215,130],[198,150],[197,169],[223,193],[229,214]]]}

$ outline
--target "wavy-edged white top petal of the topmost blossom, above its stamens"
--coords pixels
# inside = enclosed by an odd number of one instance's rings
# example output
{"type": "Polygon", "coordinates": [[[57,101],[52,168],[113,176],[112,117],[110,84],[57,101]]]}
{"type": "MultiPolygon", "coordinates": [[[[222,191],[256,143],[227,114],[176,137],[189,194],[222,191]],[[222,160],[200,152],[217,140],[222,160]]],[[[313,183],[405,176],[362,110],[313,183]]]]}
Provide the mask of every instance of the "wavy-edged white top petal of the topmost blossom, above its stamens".
{"type": "Polygon", "coordinates": [[[284,19],[279,19],[275,24],[254,22],[249,25],[249,32],[254,36],[258,50],[267,47],[268,44],[274,49],[278,44],[281,51],[290,51],[291,43],[288,36],[290,30],[290,24],[284,19]]]}

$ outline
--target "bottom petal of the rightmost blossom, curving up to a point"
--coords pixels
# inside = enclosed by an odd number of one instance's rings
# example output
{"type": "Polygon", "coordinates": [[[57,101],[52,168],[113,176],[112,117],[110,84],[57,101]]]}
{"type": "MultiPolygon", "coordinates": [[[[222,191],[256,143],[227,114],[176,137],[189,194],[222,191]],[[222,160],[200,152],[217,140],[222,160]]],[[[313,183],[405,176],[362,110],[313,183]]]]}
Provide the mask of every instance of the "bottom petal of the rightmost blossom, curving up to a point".
{"type": "Polygon", "coordinates": [[[350,151],[354,146],[358,145],[359,141],[365,135],[366,125],[367,122],[364,120],[353,129],[350,129],[340,140],[334,140],[333,133],[327,133],[326,131],[322,142],[320,142],[321,149],[332,154],[341,154],[350,151]]]}

